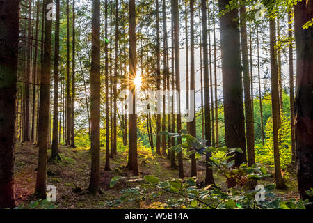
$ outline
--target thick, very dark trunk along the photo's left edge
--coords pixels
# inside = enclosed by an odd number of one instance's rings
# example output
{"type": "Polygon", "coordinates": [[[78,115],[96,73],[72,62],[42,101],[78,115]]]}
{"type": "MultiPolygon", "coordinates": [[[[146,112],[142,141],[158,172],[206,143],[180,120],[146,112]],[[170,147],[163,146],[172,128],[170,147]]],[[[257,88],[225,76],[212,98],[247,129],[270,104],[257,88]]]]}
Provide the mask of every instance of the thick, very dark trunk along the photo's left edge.
{"type": "Polygon", "coordinates": [[[0,0],[0,208],[14,208],[19,1],[0,0]]]}

